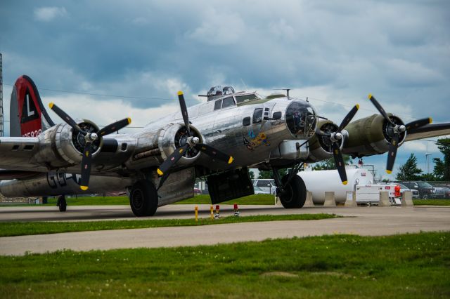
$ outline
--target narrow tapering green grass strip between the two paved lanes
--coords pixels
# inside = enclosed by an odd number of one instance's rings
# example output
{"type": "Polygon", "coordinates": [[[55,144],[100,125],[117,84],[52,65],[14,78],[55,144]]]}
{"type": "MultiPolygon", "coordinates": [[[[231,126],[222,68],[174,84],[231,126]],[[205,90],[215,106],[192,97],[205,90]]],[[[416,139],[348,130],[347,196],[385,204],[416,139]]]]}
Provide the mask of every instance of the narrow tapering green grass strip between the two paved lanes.
{"type": "Polygon", "coordinates": [[[88,230],[127,230],[146,227],[174,227],[194,225],[217,225],[237,222],[277,221],[277,220],[320,220],[340,217],[335,214],[294,214],[255,215],[245,217],[224,217],[195,219],[153,219],[153,220],[108,220],[82,222],[0,222],[0,237],[27,234],[56,234],[58,232],[84,232],[88,230]]]}

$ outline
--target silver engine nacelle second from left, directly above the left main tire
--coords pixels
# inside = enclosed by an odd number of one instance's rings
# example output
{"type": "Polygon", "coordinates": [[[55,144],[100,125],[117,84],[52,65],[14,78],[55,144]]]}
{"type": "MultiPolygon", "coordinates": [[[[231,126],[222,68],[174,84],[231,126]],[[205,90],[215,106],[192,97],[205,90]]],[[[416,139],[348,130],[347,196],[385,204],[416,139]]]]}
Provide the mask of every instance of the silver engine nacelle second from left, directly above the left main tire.
{"type": "MultiPolygon", "coordinates": [[[[200,142],[204,138],[200,132],[193,126],[189,126],[194,137],[198,137],[200,142]]],[[[163,128],[158,136],[158,147],[161,151],[161,157],[167,159],[176,149],[186,143],[188,132],[183,124],[169,124],[163,128]]],[[[176,162],[176,165],[188,165],[198,159],[200,152],[194,147],[188,149],[181,159],[176,162]]]]}

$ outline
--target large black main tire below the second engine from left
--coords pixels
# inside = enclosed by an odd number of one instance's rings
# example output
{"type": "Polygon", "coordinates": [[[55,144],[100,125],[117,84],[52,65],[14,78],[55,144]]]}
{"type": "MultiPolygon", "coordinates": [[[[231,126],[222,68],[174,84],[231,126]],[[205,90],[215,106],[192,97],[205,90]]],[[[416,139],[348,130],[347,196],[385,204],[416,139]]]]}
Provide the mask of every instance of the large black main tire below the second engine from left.
{"type": "Polygon", "coordinates": [[[137,217],[153,216],[158,208],[158,192],[155,186],[146,180],[140,180],[131,187],[129,205],[137,217]]]}

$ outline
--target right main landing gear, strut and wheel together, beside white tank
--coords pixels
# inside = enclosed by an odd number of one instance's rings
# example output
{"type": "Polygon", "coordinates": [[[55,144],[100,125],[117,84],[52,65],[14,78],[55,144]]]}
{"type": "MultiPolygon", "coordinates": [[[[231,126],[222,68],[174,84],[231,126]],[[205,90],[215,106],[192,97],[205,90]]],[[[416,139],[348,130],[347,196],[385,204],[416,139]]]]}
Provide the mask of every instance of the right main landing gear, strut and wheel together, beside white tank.
{"type": "Polygon", "coordinates": [[[285,208],[302,208],[307,199],[307,187],[296,169],[281,178],[278,168],[274,168],[274,179],[277,185],[277,194],[285,208]]]}

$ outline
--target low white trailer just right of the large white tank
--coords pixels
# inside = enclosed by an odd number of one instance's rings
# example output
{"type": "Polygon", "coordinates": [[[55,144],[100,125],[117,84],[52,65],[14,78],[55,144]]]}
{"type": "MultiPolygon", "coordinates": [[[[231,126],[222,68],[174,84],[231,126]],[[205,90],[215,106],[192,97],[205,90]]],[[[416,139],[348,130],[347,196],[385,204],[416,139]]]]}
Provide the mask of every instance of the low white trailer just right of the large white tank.
{"type": "Polygon", "coordinates": [[[380,202],[380,192],[389,193],[389,201],[392,206],[401,205],[400,189],[396,194],[397,185],[356,185],[356,203],[357,204],[377,204],[380,202]]]}

